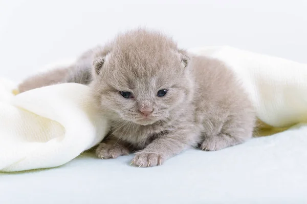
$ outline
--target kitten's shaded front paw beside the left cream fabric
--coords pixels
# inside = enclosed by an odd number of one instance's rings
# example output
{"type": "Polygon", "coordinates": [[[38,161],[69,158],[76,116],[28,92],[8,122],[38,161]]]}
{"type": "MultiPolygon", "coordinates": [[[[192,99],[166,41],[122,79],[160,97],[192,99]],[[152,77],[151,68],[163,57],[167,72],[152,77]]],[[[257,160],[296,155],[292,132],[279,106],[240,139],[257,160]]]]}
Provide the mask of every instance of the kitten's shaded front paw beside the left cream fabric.
{"type": "Polygon", "coordinates": [[[100,143],[96,149],[96,155],[102,159],[108,158],[116,158],[121,155],[128,155],[129,150],[128,148],[120,145],[120,144],[107,144],[107,143],[100,143]]]}

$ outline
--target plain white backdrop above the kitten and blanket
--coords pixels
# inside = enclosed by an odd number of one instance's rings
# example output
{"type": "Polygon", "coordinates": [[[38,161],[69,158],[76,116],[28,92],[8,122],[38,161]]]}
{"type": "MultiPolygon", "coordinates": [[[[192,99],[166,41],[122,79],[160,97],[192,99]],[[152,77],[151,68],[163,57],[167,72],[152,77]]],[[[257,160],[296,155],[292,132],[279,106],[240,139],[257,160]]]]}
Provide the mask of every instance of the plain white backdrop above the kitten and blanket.
{"type": "Polygon", "coordinates": [[[307,63],[306,11],[305,0],[0,0],[0,76],[20,80],[145,25],[183,48],[229,45],[307,63]]]}

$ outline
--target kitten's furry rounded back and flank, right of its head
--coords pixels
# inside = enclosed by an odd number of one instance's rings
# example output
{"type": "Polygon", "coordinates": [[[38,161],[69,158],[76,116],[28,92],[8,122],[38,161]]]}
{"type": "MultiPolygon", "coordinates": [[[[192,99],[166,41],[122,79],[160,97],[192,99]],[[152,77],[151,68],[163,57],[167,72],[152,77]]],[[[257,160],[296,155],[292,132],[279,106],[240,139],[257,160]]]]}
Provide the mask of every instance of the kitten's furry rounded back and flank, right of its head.
{"type": "Polygon", "coordinates": [[[250,138],[255,126],[254,107],[233,71],[217,59],[192,57],[198,89],[193,101],[196,123],[203,123],[206,135],[214,135],[208,131],[212,127],[228,127],[236,141],[250,138]]]}

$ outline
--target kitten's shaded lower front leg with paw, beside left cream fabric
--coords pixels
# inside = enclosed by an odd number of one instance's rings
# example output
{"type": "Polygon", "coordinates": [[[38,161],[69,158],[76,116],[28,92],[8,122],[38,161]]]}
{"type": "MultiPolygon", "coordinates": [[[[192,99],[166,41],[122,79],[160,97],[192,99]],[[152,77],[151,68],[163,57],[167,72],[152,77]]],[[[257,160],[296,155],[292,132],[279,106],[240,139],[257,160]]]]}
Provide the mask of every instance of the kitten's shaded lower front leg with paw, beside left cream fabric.
{"type": "Polygon", "coordinates": [[[96,149],[96,155],[102,159],[116,158],[121,155],[128,155],[131,150],[116,137],[108,137],[103,140],[96,149]]]}

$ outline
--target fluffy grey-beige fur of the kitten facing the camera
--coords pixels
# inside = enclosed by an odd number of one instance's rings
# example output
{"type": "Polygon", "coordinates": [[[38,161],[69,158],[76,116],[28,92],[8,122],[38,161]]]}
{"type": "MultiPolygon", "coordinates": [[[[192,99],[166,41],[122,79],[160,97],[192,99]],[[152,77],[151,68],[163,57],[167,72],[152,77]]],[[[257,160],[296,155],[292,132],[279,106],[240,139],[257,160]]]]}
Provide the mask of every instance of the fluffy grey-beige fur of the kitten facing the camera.
{"type": "Polygon", "coordinates": [[[121,34],[84,56],[86,69],[71,72],[65,80],[84,70],[89,73],[94,61],[90,86],[112,122],[96,150],[100,158],[138,150],[133,164],[149,167],[190,147],[214,151],[252,137],[251,101],[218,60],[188,54],[171,38],[143,29],[121,34]],[[168,92],[158,97],[161,89],[168,92]],[[135,97],[124,98],[120,91],[135,97]],[[153,111],[144,119],[139,110],[147,108],[153,111]]]}

